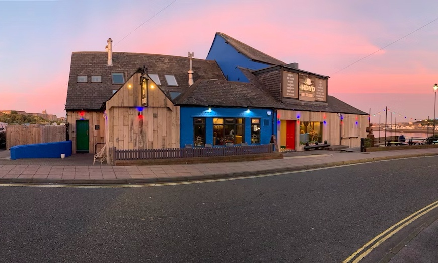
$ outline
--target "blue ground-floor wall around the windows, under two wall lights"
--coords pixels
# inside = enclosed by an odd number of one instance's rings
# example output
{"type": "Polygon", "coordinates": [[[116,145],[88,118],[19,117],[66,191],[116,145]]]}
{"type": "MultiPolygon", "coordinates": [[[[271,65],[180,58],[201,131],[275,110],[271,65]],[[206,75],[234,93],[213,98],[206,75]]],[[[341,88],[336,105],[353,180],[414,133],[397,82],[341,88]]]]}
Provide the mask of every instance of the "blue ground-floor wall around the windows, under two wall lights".
{"type": "Polygon", "coordinates": [[[272,130],[276,125],[275,114],[272,109],[250,109],[246,108],[215,108],[208,110],[208,107],[181,107],[181,148],[186,144],[193,144],[193,118],[205,119],[205,137],[207,144],[213,144],[213,118],[245,118],[244,142],[251,144],[251,118],[260,118],[260,143],[269,144],[272,132],[277,136],[277,129],[272,130]],[[267,111],[272,111],[271,116],[267,111]],[[264,125],[264,120],[269,120],[269,125],[264,125]]]}

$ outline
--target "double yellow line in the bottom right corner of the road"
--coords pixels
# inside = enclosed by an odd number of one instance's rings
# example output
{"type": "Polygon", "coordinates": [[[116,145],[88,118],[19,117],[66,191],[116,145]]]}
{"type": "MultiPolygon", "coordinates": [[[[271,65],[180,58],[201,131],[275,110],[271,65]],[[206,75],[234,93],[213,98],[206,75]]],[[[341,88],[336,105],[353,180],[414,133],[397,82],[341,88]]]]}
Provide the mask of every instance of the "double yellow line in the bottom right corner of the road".
{"type": "Polygon", "coordinates": [[[375,238],[371,239],[368,243],[363,245],[361,248],[359,248],[356,252],[354,252],[352,255],[350,255],[347,259],[345,259],[342,262],[343,263],[348,263],[348,262],[357,263],[357,262],[359,262],[364,257],[366,257],[371,251],[373,251],[373,249],[375,249],[380,244],[385,242],[385,240],[387,240],[388,238],[393,236],[395,233],[397,233],[398,231],[403,229],[405,226],[414,222],[419,217],[427,214],[428,212],[432,211],[433,209],[435,209],[437,207],[438,207],[438,201],[435,201],[432,204],[418,210],[417,212],[415,212],[412,215],[406,217],[405,219],[399,221],[397,224],[391,226],[387,230],[383,231],[382,233],[377,235],[375,238]]]}

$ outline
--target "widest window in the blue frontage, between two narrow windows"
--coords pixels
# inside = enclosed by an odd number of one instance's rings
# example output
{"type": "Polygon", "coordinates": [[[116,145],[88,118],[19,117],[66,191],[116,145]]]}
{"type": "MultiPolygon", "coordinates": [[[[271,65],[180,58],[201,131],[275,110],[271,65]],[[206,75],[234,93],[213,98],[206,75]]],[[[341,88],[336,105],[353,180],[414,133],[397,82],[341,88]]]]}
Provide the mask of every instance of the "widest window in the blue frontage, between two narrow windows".
{"type": "Polygon", "coordinates": [[[245,119],[213,118],[213,144],[241,144],[244,142],[245,119]]]}

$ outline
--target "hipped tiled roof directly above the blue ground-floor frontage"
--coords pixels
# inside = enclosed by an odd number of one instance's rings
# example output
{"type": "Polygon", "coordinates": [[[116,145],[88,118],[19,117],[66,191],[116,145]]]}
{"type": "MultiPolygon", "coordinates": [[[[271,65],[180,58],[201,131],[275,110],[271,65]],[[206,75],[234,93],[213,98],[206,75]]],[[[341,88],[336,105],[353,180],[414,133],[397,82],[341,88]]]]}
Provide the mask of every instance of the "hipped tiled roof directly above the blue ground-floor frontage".
{"type": "Polygon", "coordinates": [[[177,105],[266,107],[273,108],[277,101],[253,83],[237,81],[197,80],[178,96],[177,105]]]}

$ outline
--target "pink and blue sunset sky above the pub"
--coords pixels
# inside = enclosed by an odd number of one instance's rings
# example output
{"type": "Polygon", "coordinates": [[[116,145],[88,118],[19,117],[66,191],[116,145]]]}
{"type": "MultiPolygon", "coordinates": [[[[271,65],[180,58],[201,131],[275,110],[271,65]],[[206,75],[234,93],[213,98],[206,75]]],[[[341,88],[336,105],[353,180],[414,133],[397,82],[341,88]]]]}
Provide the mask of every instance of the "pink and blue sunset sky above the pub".
{"type": "Polygon", "coordinates": [[[0,0],[0,110],[65,116],[71,52],[105,51],[108,38],[114,52],[204,59],[217,31],[330,76],[328,94],[362,111],[433,118],[436,10],[430,0],[0,0]]]}

